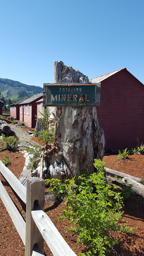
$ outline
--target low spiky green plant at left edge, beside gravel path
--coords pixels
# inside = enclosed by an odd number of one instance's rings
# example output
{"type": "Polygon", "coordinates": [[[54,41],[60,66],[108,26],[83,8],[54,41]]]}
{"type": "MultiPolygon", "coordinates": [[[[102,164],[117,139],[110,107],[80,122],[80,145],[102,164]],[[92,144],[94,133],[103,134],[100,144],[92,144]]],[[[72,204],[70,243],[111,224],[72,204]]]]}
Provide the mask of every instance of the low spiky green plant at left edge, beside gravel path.
{"type": "Polygon", "coordinates": [[[5,149],[10,151],[15,151],[17,148],[18,139],[17,137],[14,137],[14,136],[5,137],[2,133],[0,142],[2,143],[5,149]]]}

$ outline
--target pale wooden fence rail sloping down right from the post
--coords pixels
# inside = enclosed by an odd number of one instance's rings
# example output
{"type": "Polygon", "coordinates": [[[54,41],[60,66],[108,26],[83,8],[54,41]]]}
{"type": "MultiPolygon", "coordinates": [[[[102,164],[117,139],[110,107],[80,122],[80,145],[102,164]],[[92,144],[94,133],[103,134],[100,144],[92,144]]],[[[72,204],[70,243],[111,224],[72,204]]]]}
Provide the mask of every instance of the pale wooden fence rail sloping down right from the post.
{"type": "Polygon", "coordinates": [[[31,210],[32,218],[54,256],[76,256],[39,206],[31,210]]]}

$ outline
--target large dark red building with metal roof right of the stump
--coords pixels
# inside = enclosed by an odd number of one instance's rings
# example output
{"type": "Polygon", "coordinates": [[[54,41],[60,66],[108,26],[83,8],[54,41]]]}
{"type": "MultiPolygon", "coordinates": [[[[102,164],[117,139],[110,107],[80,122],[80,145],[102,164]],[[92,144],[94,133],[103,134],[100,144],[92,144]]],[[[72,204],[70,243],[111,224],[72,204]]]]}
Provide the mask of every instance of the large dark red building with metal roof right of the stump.
{"type": "Polygon", "coordinates": [[[144,86],[126,68],[90,79],[101,82],[97,118],[104,130],[105,151],[131,149],[144,142],[144,86]],[[116,150],[115,150],[116,149],[116,150]]]}

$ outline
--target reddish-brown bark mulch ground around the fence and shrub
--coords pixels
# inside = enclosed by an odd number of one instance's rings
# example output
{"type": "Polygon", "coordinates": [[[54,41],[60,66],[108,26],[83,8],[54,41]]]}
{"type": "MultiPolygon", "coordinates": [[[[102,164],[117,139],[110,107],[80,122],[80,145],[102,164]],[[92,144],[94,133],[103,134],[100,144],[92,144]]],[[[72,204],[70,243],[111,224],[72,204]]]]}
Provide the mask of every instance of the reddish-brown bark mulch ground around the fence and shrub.
{"type": "MultiPolygon", "coordinates": [[[[37,142],[37,138],[34,139],[37,142]]],[[[3,151],[0,152],[0,159],[5,153],[10,163],[7,165],[14,175],[18,178],[25,159],[23,154],[19,151],[10,152],[3,151]]],[[[103,161],[105,166],[122,171],[124,173],[140,177],[144,179],[144,156],[143,155],[130,155],[129,160],[123,163],[121,159],[117,159],[117,155],[105,155],[103,161]]],[[[10,188],[8,183],[4,180],[0,174],[0,180],[2,181],[5,189],[8,191],[11,199],[15,203],[17,209],[22,214],[25,220],[25,204],[16,197],[13,190],[10,188]]],[[[50,217],[60,234],[63,236],[65,241],[68,243],[70,248],[78,255],[78,253],[84,252],[85,246],[83,244],[76,243],[76,235],[70,234],[70,232],[65,232],[65,226],[68,226],[68,222],[63,219],[61,222],[55,220],[61,211],[64,209],[64,201],[57,203],[53,199],[45,200],[45,213],[50,217]]],[[[113,237],[118,237],[119,243],[111,248],[111,251],[107,256],[110,255],[120,255],[120,256],[142,256],[144,255],[144,200],[142,196],[131,194],[130,197],[124,202],[124,214],[120,218],[119,222],[125,222],[129,226],[134,226],[136,229],[132,234],[124,233],[113,233],[113,237]]],[[[44,244],[44,255],[50,256],[48,246],[44,244]]],[[[24,245],[0,199],[0,256],[24,256],[24,245]]],[[[94,255],[93,255],[94,256],[94,255]]]]}

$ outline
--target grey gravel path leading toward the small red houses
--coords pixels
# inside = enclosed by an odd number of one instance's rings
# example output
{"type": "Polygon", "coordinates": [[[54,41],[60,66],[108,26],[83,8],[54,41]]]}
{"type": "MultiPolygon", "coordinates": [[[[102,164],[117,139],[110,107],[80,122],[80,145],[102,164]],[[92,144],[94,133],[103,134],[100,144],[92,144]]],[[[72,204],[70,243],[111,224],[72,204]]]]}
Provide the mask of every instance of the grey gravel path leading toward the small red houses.
{"type": "Polygon", "coordinates": [[[26,142],[27,138],[30,138],[29,134],[26,132],[26,130],[22,130],[19,126],[16,126],[15,124],[9,123],[10,129],[13,130],[16,134],[16,136],[19,138],[19,144],[21,145],[29,145],[28,142],[26,142]]]}

